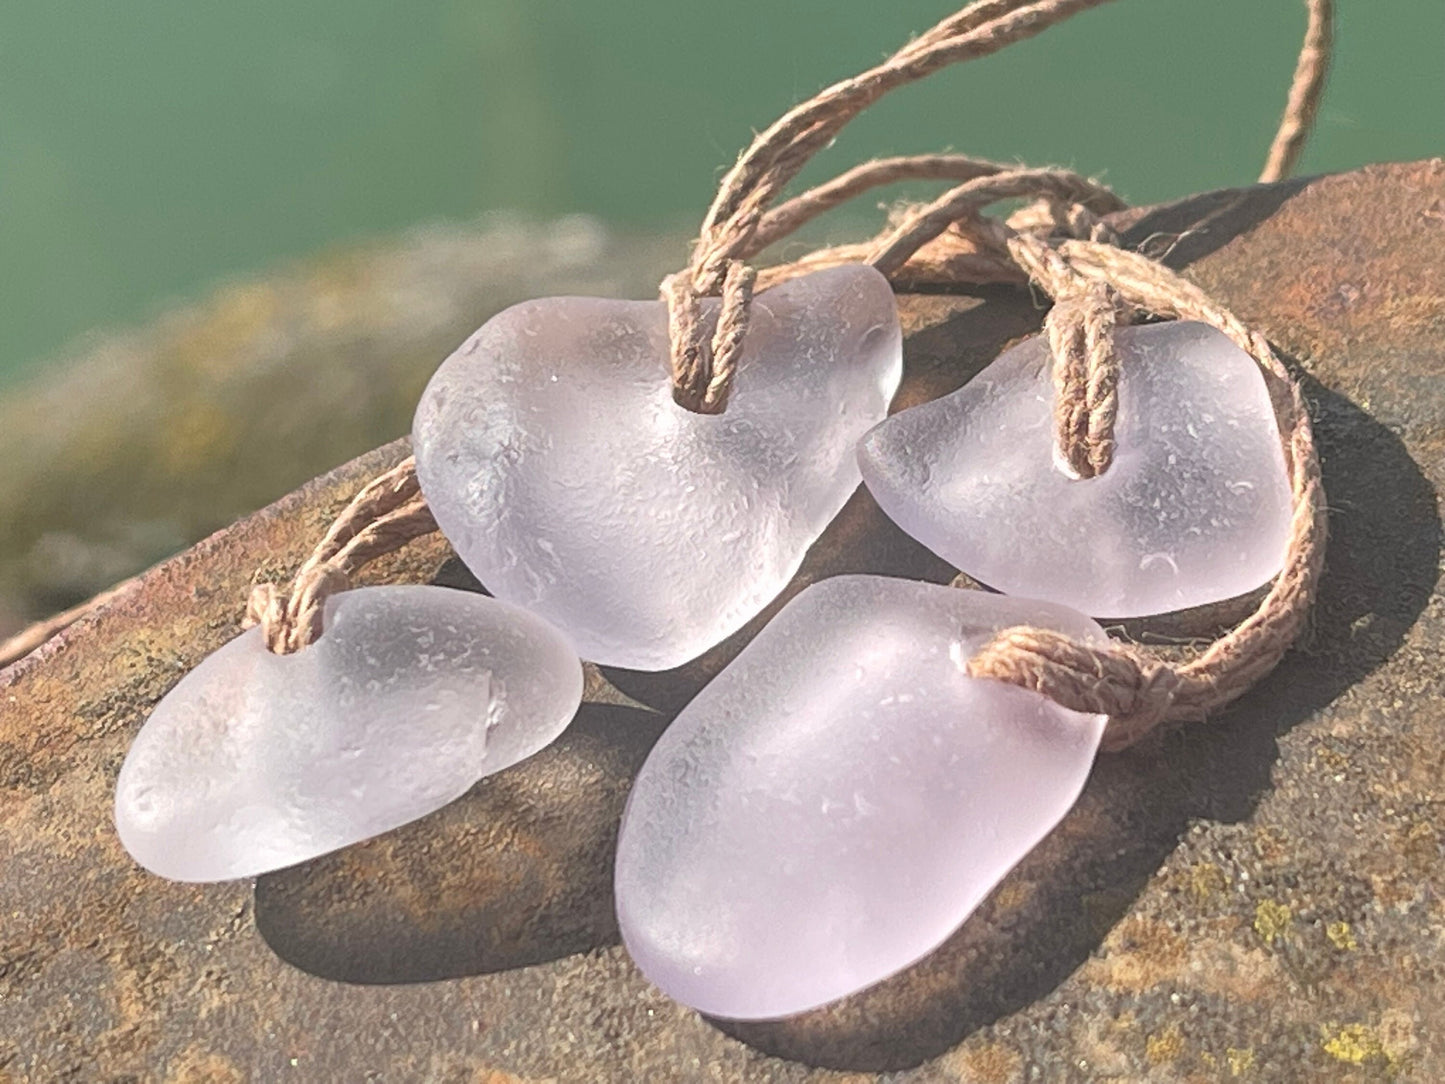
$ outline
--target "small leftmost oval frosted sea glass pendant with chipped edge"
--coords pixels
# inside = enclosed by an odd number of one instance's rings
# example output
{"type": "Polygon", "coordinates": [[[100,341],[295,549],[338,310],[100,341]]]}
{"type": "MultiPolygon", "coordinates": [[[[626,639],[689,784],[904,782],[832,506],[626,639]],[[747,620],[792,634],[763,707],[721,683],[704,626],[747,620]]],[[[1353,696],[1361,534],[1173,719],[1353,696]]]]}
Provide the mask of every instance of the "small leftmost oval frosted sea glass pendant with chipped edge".
{"type": "Polygon", "coordinates": [[[562,636],[486,595],[368,587],[324,617],[295,655],[237,636],[146,720],[116,828],[152,873],[249,877],[415,821],[551,743],[582,697],[562,636]]]}

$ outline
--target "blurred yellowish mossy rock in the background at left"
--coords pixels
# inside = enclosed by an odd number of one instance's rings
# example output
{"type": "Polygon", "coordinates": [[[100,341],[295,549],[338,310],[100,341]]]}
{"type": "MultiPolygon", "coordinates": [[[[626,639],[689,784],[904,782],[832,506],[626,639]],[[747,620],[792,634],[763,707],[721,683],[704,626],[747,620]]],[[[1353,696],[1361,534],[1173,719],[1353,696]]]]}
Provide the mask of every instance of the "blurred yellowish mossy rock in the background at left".
{"type": "Polygon", "coordinates": [[[683,238],[435,225],[238,280],[0,395],[0,639],[410,429],[494,312],[649,296],[683,238]]]}

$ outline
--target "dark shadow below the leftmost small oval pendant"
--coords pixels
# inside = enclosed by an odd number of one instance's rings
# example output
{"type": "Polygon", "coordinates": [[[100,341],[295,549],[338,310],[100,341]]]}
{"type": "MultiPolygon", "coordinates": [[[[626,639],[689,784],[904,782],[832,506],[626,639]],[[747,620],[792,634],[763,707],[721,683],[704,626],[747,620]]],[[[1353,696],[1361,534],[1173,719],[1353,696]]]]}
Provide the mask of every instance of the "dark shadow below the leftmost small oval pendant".
{"type": "Polygon", "coordinates": [[[288,963],[348,983],[458,978],[616,944],[617,827],[663,726],[584,704],[551,747],[434,815],[259,877],[256,926],[288,963]]]}

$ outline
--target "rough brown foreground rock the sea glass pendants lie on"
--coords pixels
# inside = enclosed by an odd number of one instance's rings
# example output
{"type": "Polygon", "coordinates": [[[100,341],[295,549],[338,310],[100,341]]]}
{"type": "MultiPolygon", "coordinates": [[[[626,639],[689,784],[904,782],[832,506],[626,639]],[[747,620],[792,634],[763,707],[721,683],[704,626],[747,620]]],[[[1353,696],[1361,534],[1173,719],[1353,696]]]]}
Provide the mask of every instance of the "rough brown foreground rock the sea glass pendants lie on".
{"type": "MultiPolygon", "coordinates": [[[[254,887],[130,864],[110,825],[129,737],[236,632],[253,569],[292,568],[403,454],[389,447],[0,674],[0,1078],[1445,1078],[1445,163],[1123,224],[1298,360],[1334,510],[1327,578],[1277,674],[1208,726],[1104,759],[942,950],[834,1009],[720,1026],[618,948],[630,773],[756,623],[681,671],[594,674],[559,744],[380,840],[254,887]]],[[[1013,291],[910,298],[903,318],[900,402],[1039,322],[1013,291]]],[[[376,577],[465,580],[444,558],[418,543],[376,577]]],[[[840,571],[952,575],[866,496],[798,582],[840,571]]]]}

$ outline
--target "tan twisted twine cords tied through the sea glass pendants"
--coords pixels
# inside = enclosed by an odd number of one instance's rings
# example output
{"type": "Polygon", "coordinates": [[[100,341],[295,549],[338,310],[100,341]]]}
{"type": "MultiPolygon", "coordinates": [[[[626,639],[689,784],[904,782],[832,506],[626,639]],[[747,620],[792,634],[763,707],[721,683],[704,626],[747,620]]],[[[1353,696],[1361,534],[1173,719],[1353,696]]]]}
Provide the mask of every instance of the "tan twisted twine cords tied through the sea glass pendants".
{"type": "MultiPolygon", "coordinates": [[[[1298,637],[1324,561],[1327,513],[1309,416],[1298,383],[1263,335],[1204,291],[1117,246],[1103,215],[1124,204],[1095,182],[1055,169],[1025,169],[962,155],[868,162],[777,207],[798,171],[853,117],[887,91],[939,68],[997,52],[1105,0],[977,0],[919,35],[881,65],[828,87],[757,136],[724,176],[682,272],[662,285],[672,341],[673,393],[705,413],[727,408],[756,289],[808,270],[867,262],[897,283],[1032,282],[1053,298],[1045,332],[1055,356],[1055,431],[1081,478],[1108,470],[1117,413],[1117,327],[1139,315],[1198,319],[1259,363],[1282,435],[1293,513],[1283,569],[1259,608],[1198,658],[1169,663],[1126,643],[1085,645],[1043,629],[1007,629],[970,674],[1035,689],[1056,702],[1108,715],[1104,747],[1124,749],[1159,723],[1202,718],[1263,678],[1298,637]],[[952,181],[877,238],[825,249],[762,276],[747,260],[814,217],[896,181],[952,181]],[[983,210],[1027,205],[1007,221],[983,210]],[[717,301],[705,305],[704,301],[717,301]],[[715,321],[707,327],[715,311],[715,321]]],[[[1318,108],[1331,48],[1332,0],[1305,0],[1309,27],[1261,179],[1287,175],[1318,108]]],[[[407,458],[366,486],[331,525],[286,587],[259,584],[247,624],[267,648],[295,652],[322,633],[325,600],[367,562],[436,529],[407,458]]]]}

